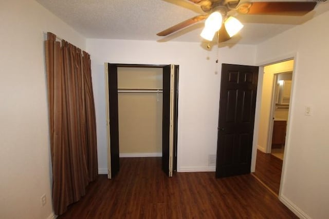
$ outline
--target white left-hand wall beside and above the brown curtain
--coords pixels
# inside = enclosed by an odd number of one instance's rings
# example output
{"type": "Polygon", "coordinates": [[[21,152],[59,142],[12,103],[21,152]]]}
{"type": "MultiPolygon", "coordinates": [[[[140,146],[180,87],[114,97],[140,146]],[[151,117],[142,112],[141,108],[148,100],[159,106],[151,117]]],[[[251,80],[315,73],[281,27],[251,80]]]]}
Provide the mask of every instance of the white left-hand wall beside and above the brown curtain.
{"type": "Polygon", "coordinates": [[[0,218],[52,214],[43,31],[85,48],[39,3],[0,1],[0,218]]]}

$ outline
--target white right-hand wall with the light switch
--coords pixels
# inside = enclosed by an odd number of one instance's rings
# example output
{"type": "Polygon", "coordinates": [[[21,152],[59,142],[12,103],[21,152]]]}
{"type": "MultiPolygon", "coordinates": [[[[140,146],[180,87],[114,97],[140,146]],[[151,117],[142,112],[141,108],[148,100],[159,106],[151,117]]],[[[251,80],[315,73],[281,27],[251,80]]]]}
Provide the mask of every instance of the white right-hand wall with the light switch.
{"type": "Polygon", "coordinates": [[[329,216],[328,20],[326,12],[257,49],[261,64],[296,54],[280,198],[303,218],[329,216]]]}

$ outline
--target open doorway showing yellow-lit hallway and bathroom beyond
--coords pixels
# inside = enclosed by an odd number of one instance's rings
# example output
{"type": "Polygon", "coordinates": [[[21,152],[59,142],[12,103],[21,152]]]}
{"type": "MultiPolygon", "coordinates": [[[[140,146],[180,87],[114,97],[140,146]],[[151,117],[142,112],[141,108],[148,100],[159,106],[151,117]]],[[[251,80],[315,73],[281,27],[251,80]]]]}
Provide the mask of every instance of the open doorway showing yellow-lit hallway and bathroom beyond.
{"type": "Polygon", "coordinates": [[[287,147],[293,70],[294,59],[264,67],[257,160],[253,174],[277,196],[287,147]]]}

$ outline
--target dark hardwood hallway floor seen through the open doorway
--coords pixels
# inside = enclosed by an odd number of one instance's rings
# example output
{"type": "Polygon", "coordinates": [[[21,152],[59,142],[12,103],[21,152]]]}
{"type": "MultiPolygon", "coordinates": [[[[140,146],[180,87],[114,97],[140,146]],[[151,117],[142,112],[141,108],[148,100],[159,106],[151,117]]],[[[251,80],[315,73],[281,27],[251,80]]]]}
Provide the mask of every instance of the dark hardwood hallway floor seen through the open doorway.
{"type": "Polygon", "coordinates": [[[279,194],[282,160],[272,154],[257,150],[256,168],[253,173],[274,193],[279,194]]]}

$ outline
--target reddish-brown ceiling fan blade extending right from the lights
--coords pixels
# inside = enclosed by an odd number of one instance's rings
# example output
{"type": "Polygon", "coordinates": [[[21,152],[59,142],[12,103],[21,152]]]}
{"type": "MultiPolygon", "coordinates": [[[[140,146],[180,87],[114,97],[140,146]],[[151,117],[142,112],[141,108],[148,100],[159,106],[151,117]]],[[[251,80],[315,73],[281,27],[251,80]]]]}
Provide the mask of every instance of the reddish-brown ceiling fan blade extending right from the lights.
{"type": "Polygon", "coordinates": [[[316,2],[251,2],[237,7],[241,14],[295,15],[301,16],[312,11],[316,2]]]}

